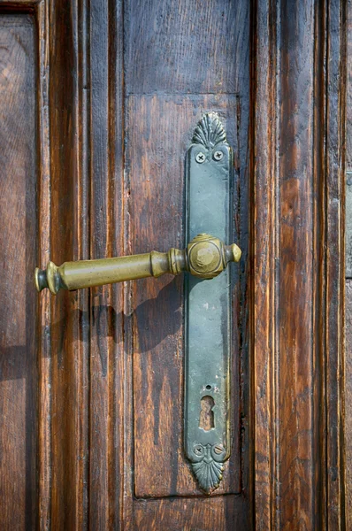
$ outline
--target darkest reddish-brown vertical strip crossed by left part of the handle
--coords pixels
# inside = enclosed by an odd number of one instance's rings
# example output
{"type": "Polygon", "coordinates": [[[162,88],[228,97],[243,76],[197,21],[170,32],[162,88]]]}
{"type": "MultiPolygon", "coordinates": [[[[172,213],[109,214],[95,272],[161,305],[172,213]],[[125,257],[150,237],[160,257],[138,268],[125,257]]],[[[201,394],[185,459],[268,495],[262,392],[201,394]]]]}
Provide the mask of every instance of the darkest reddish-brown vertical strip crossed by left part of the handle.
{"type": "MultiPolygon", "coordinates": [[[[51,259],[88,258],[78,5],[50,3],[51,259]],[[81,124],[81,126],[79,125],[81,124]]],[[[88,292],[51,297],[50,526],[88,520],[88,292]]]]}

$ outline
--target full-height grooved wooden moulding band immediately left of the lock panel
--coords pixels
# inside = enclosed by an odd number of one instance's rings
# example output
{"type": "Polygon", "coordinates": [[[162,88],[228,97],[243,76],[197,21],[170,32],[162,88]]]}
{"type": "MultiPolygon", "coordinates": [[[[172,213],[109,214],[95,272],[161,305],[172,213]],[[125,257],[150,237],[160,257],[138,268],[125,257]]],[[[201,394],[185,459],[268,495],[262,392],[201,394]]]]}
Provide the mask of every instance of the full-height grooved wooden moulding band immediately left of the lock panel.
{"type": "MultiPolygon", "coordinates": [[[[124,253],[122,5],[90,3],[90,258],[124,253]]],[[[90,294],[89,526],[123,526],[126,485],[124,286],[90,294]]],[[[126,474],[127,475],[127,474],[126,474]]]]}

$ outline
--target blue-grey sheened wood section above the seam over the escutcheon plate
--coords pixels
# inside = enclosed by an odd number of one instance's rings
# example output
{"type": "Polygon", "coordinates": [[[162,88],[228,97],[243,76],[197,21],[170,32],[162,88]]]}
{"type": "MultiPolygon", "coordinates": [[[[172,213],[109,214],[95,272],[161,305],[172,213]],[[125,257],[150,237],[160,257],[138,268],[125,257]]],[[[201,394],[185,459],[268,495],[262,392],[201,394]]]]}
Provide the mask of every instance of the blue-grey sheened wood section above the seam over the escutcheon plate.
{"type": "Polygon", "coordinates": [[[126,91],[233,93],[246,82],[249,3],[126,2],[126,91]],[[242,56],[241,56],[242,57],[242,56]]]}

